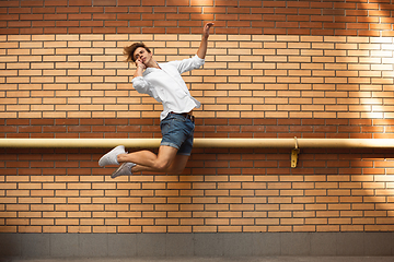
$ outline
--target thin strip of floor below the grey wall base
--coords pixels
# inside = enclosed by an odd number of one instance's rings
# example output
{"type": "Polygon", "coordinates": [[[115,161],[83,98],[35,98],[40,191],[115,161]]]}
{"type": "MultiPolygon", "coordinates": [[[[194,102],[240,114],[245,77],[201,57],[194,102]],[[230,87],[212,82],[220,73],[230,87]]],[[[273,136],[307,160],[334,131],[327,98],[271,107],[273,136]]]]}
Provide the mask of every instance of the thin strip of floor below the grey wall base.
{"type": "Polygon", "coordinates": [[[260,258],[130,258],[8,259],[0,262],[394,262],[394,257],[260,257],[260,258]]]}

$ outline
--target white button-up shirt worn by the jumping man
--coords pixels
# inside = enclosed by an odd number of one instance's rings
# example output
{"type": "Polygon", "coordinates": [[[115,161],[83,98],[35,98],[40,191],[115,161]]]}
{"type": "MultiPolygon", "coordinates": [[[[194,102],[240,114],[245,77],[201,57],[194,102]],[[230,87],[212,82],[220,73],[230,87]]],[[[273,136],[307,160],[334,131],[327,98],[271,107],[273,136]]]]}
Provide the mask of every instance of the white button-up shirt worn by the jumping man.
{"type": "Polygon", "coordinates": [[[163,104],[160,115],[160,120],[163,120],[171,111],[189,112],[201,106],[201,103],[190,95],[181,74],[198,69],[204,63],[205,59],[197,55],[184,60],[159,63],[161,69],[147,68],[142,76],[134,78],[131,83],[138,93],[148,94],[163,104]]]}

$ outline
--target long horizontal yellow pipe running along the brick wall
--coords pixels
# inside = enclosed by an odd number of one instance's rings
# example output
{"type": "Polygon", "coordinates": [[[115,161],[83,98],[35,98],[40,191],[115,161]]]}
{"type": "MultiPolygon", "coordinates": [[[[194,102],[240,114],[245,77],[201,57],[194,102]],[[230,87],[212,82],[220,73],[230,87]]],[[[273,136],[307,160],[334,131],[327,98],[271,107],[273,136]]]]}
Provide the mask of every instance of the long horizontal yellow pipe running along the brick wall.
{"type": "MultiPolygon", "coordinates": [[[[154,148],[161,139],[0,139],[0,147],[19,148],[154,148]]],[[[393,148],[394,139],[200,139],[199,148],[393,148]]]]}

